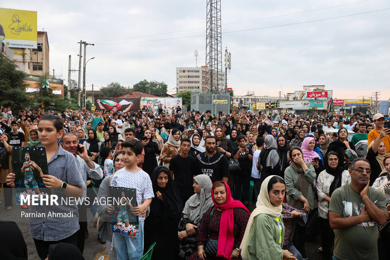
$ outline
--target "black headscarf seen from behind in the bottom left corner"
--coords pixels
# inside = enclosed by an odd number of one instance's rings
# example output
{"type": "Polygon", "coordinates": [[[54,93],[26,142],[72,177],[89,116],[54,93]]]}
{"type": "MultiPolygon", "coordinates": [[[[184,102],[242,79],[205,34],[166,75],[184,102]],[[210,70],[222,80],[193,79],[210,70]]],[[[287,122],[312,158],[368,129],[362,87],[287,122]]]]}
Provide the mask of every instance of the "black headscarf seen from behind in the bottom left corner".
{"type": "Polygon", "coordinates": [[[0,222],[0,234],[1,259],[27,259],[27,245],[15,222],[0,222]]]}

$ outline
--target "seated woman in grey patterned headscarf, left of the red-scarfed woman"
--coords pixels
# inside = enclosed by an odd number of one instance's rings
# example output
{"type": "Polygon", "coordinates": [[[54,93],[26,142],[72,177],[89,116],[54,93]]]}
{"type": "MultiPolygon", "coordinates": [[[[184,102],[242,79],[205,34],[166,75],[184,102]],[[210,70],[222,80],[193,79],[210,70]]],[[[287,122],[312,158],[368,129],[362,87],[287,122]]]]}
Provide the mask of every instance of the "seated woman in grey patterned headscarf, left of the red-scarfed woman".
{"type": "MultiPolygon", "coordinates": [[[[179,251],[181,256],[191,256],[196,250],[196,235],[203,215],[213,206],[211,189],[213,183],[209,176],[200,174],[194,177],[195,194],[186,202],[178,227],[178,239],[181,241],[179,251]],[[189,237],[189,238],[188,238],[189,237]]],[[[185,258],[185,257],[183,257],[185,258]]]]}

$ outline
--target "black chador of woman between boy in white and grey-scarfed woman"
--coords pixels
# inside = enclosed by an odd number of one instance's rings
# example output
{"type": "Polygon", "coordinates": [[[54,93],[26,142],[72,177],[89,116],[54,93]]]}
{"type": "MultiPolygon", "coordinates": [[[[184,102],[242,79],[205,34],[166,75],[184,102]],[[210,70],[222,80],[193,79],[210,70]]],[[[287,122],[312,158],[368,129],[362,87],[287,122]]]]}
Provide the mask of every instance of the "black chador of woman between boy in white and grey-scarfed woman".
{"type": "Polygon", "coordinates": [[[177,226],[180,220],[180,196],[169,169],[159,166],[152,174],[152,185],[155,197],[150,204],[150,214],[144,225],[144,252],[156,242],[152,260],[176,259],[178,254],[177,226]],[[157,186],[157,177],[161,171],[168,173],[165,188],[157,186]],[[163,201],[157,199],[156,192],[162,194],[163,201]]]}

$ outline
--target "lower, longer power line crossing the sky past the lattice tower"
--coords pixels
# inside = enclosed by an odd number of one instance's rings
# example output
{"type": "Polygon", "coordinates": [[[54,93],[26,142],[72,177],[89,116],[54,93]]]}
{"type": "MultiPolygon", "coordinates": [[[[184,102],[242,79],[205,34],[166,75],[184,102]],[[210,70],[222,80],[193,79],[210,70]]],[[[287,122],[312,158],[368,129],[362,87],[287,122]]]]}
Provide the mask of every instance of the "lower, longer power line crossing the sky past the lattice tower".
{"type": "MultiPolygon", "coordinates": [[[[351,17],[351,16],[376,13],[376,12],[386,11],[386,10],[390,10],[390,7],[377,9],[377,10],[372,10],[372,11],[367,11],[367,12],[362,12],[362,13],[355,13],[355,14],[351,14],[351,15],[335,16],[335,17],[324,18],[324,19],[315,19],[315,20],[309,20],[309,21],[303,21],[303,22],[284,23],[284,24],[272,25],[272,26],[256,27],[256,28],[249,28],[249,29],[242,29],[242,30],[234,30],[234,31],[222,32],[222,34],[231,34],[231,33],[246,32],[246,31],[253,31],[253,30],[262,30],[262,29],[268,29],[268,28],[284,27],[284,26],[291,26],[291,25],[297,25],[297,24],[312,23],[312,22],[318,22],[318,21],[326,21],[326,20],[331,20],[331,19],[340,19],[340,18],[346,18],[346,17],[351,17]]],[[[139,40],[139,41],[129,41],[129,42],[110,42],[110,43],[100,43],[99,45],[142,43],[142,42],[164,41],[164,40],[174,40],[174,39],[194,38],[194,37],[205,37],[205,35],[202,34],[202,35],[193,35],[193,36],[171,37],[171,38],[163,38],[163,39],[139,40]]]]}

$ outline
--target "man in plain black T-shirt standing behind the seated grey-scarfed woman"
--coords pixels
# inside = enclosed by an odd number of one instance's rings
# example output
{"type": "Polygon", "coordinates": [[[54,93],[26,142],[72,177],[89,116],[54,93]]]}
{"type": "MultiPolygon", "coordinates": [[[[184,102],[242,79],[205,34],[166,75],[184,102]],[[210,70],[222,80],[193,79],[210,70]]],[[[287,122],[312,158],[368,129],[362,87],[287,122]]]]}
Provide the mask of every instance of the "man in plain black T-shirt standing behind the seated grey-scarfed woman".
{"type": "Polygon", "coordinates": [[[193,178],[195,177],[195,158],[188,156],[191,149],[190,139],[184,138],[180,143],[180,152],[174,156],[169,163],[169,170],[175,176],[175,184],[182,201],[182,208],[186,201],[194,194],[193,178]]]}

